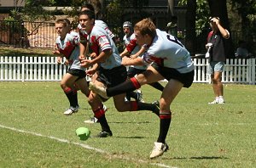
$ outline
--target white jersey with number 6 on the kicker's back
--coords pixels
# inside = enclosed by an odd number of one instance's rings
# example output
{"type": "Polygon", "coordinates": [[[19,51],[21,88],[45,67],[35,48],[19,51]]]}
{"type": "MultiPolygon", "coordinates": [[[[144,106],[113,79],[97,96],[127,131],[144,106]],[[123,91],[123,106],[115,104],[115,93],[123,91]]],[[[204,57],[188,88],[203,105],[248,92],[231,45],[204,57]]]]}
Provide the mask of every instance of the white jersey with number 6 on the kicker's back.
{"type": "Polygon", "coordinates": [[[143,54],[143,62],[145,64],[154,62],[159,66],[173,68],[180,73],[194,70],[189,51],[175,36],[159,29],[156,29],[156,36],[148,46],[148,51],[143,54]]]}

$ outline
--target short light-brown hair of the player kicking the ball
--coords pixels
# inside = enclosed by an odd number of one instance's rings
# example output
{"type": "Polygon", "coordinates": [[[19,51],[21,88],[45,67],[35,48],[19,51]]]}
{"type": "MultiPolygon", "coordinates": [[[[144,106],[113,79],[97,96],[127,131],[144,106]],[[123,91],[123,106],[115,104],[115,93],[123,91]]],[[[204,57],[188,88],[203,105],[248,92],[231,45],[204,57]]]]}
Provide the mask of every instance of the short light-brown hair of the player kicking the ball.
{"type": "Polygon", "coordinates": [[[135,31],[140,31],[143,36],[148,34],[149,36],[151,36],[153,38],[154,38],[154,36],[156,36],[155,29],[156,29],[156,27],[155,27],[153,21],[150,20],[149,18],[143,19],[143,20],[137,22],[136,25],[134,25],[135,31]]]}

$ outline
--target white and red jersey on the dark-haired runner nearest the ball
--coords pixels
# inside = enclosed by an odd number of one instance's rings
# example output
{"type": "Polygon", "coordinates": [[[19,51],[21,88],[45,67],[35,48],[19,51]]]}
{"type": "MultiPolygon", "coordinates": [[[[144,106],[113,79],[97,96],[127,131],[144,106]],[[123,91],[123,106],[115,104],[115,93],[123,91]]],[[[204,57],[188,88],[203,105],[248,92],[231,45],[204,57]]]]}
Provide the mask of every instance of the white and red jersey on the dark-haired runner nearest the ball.
{"type": "Polygon", "coordinates": [[[103,30],[102,27],[94,25],[87,40],[89,42],[90,50],[97,55],[106,49],[112,49],[113,53],[110,57],[100,63],[103,69],[110,70],[121,65],[122,59],[118,49],[107,31],[103,30]]]}

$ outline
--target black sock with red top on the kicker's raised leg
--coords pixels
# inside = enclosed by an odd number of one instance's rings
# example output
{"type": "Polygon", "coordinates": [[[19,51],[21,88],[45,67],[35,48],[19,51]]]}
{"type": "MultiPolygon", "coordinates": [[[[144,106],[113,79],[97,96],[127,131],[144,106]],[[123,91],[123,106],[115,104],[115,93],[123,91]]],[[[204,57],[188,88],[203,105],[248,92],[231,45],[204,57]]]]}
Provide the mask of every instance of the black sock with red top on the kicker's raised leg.
{"type": "Polygon", "coordinates": [[[115,87],[109,87],[107,89],[107,95],[108,97],[112,97],[115,95],[119,95],[124,92],[131,92],[136,90],[137,88],[141,87],[139,82],[135,77],[132,77],[131,79],[115,86],[115,87]]]}

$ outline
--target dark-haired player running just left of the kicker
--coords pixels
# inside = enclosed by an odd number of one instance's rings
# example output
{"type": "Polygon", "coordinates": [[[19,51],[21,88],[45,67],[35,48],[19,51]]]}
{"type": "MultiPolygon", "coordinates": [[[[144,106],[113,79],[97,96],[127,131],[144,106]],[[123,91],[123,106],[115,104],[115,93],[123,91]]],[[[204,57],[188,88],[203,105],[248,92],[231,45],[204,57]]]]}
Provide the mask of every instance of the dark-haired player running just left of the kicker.
{"type": "MultiPolygon", "coordinates": [[[[90,70],[86,70],[87,74],[94,74],[98,72],[98,76],[94,84],[96,86],[114,87],[126,81],[127,73],[124,65],[121,64],[121,57],[113,40],[108,33],[101,27],[94,25],[95,14],[90,10],[82,11],[79,14],[79,22],[84,31],[88,34],[87,42],[88,48],[96,53],[94,59],[82,59],[81,65],[84,68],[93,66],[90,70]]],[[[137,111],[137,110],[151,110],[155,113],[159,112],[155,104],[145,104],[137,101],[125,102],[125,93],[113,96],[115,108],[120,111],[137,111]]],[[[102,132],[98,137],[112,136],[108,121],[105,117],[105,110],[102,108],[102,100],[96,93],[90,92],[89,103],[102,126],[102,132]]]]}

